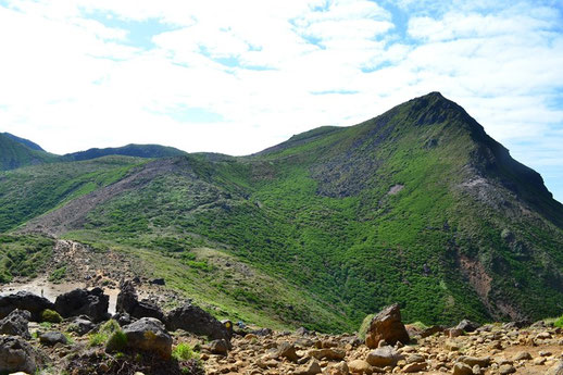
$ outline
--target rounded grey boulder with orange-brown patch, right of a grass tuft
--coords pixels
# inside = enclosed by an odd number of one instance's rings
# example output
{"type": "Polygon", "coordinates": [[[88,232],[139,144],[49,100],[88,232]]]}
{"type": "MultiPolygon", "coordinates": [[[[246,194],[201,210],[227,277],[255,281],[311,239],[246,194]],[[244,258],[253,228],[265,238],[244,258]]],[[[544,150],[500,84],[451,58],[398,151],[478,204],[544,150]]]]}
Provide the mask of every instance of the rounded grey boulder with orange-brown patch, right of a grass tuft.
{"type": "Polygon", "coordinates": [[[154,352],[165,360],[172,355],[172,337],[154,317],[142,317],[123,327],[123,333],[130,349],[154,352]]]}

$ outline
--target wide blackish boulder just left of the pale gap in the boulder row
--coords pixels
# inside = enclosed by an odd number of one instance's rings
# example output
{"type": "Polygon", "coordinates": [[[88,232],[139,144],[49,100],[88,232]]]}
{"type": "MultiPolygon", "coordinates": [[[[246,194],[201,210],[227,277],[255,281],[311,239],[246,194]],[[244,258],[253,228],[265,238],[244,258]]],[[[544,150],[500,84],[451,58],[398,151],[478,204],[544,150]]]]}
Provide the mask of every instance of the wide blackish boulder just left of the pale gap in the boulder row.
{"type": "Polygon", "coordinates": [[[104,295],[101,288],[74,289],[57,297],[54,310],[63,317],[87,315],[93,322],[109,318],[108,308],[110,296],[104,295]]]}

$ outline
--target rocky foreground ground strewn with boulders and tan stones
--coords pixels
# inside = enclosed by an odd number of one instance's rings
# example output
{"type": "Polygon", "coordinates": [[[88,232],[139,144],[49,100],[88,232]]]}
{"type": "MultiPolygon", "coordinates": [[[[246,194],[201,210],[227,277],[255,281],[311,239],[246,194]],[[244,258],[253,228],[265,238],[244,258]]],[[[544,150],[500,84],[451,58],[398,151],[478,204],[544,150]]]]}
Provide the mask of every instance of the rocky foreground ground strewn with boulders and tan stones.
{"type": "Polygon", "coordinates": [[[392,305],[361,339],[234,326],[189,302],[165,313],[130,282],[112,320],[108,300],[99,288],[0,298],[0,374],[563,374],[563,332],[543,322],[420,329],[392,305]]]}

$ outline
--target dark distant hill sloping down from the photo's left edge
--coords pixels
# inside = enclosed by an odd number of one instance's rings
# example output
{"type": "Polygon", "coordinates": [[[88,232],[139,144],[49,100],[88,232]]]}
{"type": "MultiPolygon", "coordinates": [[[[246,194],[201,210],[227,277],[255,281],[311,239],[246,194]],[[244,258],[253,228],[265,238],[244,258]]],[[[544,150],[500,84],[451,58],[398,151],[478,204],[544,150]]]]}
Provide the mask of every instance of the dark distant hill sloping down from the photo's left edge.
{"type": "Polygon", "coordinates": [[[14,170],[26,165],[37,165],[54,161],[57,155],[45,152],[36,143],[0,133],[0,171],[14,170]]]}

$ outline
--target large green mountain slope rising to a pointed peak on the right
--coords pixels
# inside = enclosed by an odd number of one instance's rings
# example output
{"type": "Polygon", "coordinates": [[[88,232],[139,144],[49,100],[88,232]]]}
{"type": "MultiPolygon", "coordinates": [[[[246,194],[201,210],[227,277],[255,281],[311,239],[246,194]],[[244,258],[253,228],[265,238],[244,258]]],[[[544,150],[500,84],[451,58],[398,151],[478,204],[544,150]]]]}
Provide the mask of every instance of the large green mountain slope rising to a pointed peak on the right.
{"type": "MultiPolygon", "coordinates": [[[[46,174],[73,167],[82,168],[63,163],[46,174]]],[[[250,157],[200,153],[123,167],[117,176],[100,166],[113,176],[107,184],[28,214],[34,188],[14,183],[28,177],[4,173],[0,191],[20,195],[11,212],[26,214],[0,224],[27,222],[21,230],[151,259],[175,288],[235,316],[250,316],[252,307],[251,318],[282,325],[352,330],[391,302],[406,321],[427,324],[563,310],[563,207],[536,172],[437,92],[250,157]],[[203,248],[286,292],[233,282],[239,272],[217,266],[203,248]],[[201,286],[183,284],[198,277],[201,286]]]]}

